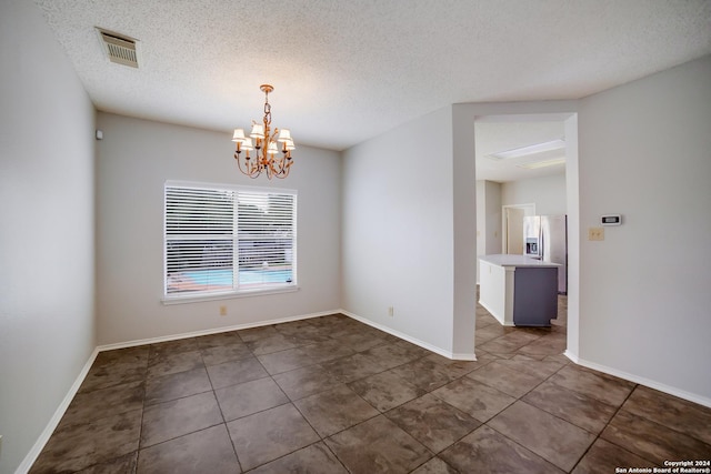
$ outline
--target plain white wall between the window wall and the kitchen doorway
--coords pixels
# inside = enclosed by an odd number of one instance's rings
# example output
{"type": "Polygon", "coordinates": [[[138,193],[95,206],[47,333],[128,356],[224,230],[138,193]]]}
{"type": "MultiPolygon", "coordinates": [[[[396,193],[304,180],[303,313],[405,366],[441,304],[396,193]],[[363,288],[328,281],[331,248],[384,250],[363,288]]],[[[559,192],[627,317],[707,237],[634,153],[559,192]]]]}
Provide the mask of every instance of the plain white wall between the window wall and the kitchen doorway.
{"type": "Polygon", "coordinates": [[[342,307],[450,352],[451,157],[445,108],[347,150],[342,174],[342,307]]]}

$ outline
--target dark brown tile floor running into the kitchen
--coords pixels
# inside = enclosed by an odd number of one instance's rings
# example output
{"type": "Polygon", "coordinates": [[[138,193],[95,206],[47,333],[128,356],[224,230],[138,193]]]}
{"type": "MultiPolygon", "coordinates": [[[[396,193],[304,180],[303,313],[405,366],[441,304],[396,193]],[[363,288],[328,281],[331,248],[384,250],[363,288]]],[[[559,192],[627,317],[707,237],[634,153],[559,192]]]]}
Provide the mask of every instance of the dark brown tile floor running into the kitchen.
{"type": "Polygon", "coordinates": [[[711,457],[711,409],[477,309],[477,362],[343,315],[102,352],[32,473],[613,473],[711,457]]]}

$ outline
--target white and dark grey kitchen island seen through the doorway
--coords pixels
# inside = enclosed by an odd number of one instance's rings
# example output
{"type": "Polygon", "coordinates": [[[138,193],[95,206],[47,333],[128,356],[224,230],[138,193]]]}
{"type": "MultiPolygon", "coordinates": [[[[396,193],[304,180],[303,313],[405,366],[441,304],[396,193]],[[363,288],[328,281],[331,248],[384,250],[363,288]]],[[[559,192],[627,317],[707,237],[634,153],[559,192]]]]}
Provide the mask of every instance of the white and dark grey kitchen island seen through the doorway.
{"type": "Polygon", "coordinates": [[[501,324],[550,326],[558,317],[558,263],[498,254],[479,264],[479,303],[501,324]]]}

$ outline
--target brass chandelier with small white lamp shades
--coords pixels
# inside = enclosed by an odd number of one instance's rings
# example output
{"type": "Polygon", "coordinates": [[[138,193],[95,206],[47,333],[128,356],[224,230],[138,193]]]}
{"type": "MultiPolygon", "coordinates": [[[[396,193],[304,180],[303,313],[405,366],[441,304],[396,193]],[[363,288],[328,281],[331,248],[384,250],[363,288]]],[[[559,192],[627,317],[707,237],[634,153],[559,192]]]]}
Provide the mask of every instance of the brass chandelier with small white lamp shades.
{"type": "Polygon", "coordinates": [[[244,135],[243,129],[234,129],[232,141],[237,143],[234,159],[240,171],[250,178],[257,178],[262,172],[267,178],[287,178],[293,164],[291,150],[293,140],[291,132],[287,129],[271,131],[271,105],[269,104],[269,92],[274,90],[269,84],[262,84],[259,89],[264,92],[264,118],[263,123],[252,120],[252,131],[249,137],[244,135]],[[252,139],[254,142],[252,142],[252,139]],[[250,157],[249,152],[256,151],[256,157],[250,157]],[[281,151],[281,154],[279,152],[281,151]],[[242,152],[244,155],[242,157],[242,152]]]}

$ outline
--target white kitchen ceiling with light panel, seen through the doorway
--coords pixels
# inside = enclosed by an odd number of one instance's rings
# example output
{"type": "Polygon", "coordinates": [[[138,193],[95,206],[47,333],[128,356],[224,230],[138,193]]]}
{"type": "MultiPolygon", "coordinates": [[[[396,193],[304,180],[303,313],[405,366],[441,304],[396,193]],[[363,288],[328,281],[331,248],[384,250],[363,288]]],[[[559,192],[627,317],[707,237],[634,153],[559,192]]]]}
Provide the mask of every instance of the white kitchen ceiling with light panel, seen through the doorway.
{"type": "Polygon", "coordinates": [[[477,180],[502,183],[564,174],[563,120],[561,115],[488,117],[477,120],[477,180]],[[537,149],[535,145],[544,147],[537,149]]]}

